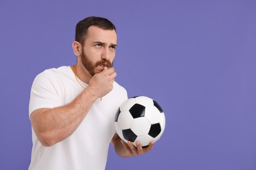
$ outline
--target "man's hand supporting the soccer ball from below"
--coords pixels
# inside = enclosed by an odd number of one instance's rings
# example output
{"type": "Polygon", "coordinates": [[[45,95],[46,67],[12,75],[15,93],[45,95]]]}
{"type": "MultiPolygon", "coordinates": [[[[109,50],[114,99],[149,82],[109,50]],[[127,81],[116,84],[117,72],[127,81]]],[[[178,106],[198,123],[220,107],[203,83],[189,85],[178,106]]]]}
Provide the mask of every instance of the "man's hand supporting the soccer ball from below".
{"type": "Polygon", "coordinates": [[[146,152],[149,152],[152,150],[154,143],[150,142],[150,144],[142,148],[141,144],[139,142],[136,143],[137,146],[134,146],[131,141],[128,141],[128,143],[125,143],[125,141],[121,140],[121,138],[117,135],[117,133],[114,135],[111,141],[112,145],[115,148],[116,153],[121,157],[129,157],[129,156],[137,156],[140,154],[145,154],[146,152]]]}

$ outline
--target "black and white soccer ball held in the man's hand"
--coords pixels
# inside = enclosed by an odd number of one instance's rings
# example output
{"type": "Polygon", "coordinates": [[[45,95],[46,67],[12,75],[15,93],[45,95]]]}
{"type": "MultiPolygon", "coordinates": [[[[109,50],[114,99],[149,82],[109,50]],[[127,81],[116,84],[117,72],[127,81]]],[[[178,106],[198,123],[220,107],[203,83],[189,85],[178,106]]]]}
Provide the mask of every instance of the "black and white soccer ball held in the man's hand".
{"type": "Polygon", "coordinates": [[[158,141],[165,129],[165,114],[160,105],[146,96],[131,97],[124,101],[116,114],[116,132],[123,141],[136,146],[148,146],[158,141]]]}

